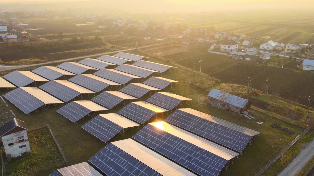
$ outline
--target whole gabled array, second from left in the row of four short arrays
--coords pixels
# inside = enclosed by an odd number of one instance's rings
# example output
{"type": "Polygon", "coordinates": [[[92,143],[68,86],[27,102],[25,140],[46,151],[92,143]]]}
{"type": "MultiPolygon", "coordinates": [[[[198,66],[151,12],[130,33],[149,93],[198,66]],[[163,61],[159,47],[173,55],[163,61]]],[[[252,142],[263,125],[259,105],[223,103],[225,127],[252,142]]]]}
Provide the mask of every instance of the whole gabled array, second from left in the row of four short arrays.
{"type": "Polygon", "coordinates": [[[135,97],[129,96],[119,91],[104,91],[101,94],[92,98],[92,101],[112,109],[124,100],[136,99],[135,97]]]}

